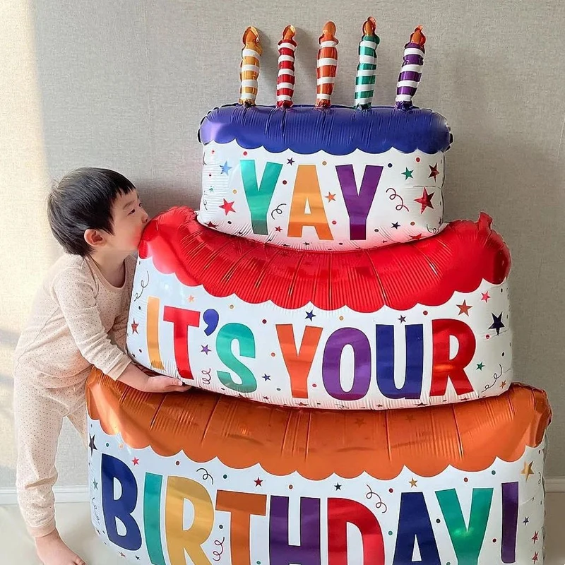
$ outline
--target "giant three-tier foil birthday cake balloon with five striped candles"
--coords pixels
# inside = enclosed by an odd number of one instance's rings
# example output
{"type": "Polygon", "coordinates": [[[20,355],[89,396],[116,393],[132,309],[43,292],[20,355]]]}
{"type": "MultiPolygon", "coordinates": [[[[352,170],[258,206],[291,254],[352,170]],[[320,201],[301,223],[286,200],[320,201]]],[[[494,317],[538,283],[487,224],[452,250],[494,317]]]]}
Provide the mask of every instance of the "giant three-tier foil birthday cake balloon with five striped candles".
{"type": "Polygon", "coordinates": [[[545,393],[513,384],[509,251],[486,214],[444,222],[440,114],[412,105],[425,37],[373,107],[376,23],[353,107],[277,102],[244,32],[239,102],[203,119],[198,212],[143,234],[128,348],[189,393],[87,386],[93,523],[153,565],[494,565],[544,559],[545,393]]]}

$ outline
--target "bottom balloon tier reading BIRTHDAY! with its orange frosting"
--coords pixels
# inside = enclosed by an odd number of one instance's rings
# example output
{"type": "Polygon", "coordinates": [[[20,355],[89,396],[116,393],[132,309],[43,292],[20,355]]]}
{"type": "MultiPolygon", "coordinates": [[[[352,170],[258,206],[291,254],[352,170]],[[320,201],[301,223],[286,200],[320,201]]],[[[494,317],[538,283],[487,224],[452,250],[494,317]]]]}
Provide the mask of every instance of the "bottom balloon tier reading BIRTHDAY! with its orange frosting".
{"type": "Polygon", "coordinates": [[[141,565],[543,563],[545,393],[383,412],[87,383],[97,533],[141,565]]]}

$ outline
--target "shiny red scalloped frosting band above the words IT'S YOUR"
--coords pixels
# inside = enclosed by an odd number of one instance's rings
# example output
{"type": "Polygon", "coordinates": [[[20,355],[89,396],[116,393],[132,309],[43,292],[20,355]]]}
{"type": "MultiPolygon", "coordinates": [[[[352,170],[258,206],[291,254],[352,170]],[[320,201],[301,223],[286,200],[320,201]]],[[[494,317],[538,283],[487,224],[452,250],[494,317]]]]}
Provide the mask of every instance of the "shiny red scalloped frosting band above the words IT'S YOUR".
{"type": "Polygon", "coordinates": [[[270,246],[203,227],[191,208],[171,208],[145,229],[141,258],[161,273],[210,295],[244,302],[272,301],[286,309],[311,302],[370,312],[438,306],[454,292],[477,290],[482,280],[500,284],[510,270],[509,250],[481,214],[457,220],[440,234],[407,244],[359,251],[300,251],[270,246]]]}

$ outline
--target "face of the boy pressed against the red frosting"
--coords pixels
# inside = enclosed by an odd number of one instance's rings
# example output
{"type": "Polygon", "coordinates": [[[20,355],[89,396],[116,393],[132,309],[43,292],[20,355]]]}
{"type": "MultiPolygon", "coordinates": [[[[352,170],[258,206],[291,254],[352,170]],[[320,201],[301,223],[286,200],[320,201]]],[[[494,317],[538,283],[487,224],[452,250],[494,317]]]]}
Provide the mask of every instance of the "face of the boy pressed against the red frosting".
{"type": "Polygon", "coordinates": [[[116,251],[137,251],[149,216],[143,210],[136,190],[120,194],[112,206],[113,234],[105,234],[107,244],[116,251]]]}

